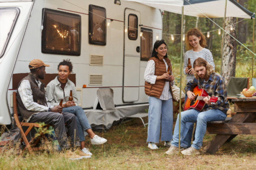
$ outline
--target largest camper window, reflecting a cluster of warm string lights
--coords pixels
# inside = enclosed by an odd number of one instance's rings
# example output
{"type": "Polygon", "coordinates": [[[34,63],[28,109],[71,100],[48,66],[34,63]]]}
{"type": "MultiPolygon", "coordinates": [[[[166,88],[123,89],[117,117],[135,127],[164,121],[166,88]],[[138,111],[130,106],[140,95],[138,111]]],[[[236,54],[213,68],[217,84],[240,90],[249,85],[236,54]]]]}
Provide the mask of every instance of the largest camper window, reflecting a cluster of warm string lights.
{"type": "Polygon", "coordinates": [[[43,9],[42,52],[77,55],[81,53],[81,16],[43,9]]]}

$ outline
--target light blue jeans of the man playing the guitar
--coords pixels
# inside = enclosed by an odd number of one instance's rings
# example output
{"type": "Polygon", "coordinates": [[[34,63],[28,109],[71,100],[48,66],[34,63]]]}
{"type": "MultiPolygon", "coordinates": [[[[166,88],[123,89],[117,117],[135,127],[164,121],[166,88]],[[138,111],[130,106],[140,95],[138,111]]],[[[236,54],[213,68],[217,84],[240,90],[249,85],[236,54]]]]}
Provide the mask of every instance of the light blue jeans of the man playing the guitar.
{"type": "MultiPolygon", "coordinates": [[[[193,141],[192,147],[195,149],[200,149],[202,147],[203,137],[206,133],[207,122],[217,121],[217,120],[225,120],[227,115],[218,109],[211,109],[205,112],[199,112],[195,109],[186,110],[181,112],[181,121],[180,121],[180,133],[183,134],[185,124],[187,122],[197,123],[196,132],[195,132],[195,140],[193,141]]],[[[177,118],[172,146],[178,147],[179,142],[179,116],[177,118]]]]}

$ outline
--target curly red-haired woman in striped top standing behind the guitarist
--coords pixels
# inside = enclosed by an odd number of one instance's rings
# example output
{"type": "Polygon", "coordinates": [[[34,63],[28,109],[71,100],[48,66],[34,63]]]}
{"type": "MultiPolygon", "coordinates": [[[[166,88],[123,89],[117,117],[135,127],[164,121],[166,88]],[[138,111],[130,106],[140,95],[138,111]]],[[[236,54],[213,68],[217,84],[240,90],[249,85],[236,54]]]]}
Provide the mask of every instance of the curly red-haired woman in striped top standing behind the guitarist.
{"type": "MultiPolygon", "coordinates": [[[[187,83],[193,80],[194,77],[194,69],[193,63],[197,58],[202,58],[206,60],[212,67],[215,69],[215,65],[213,62],[211,51],[204,48],[206,45],[206,37],[203,35],[201,31],[197,28],[189,29],[186,35],[185,40],[187,52],[185,52],[184,56],[184,64],[183,64],[183,72],[187,75],[187,83]],[[190,59],[192,68],[188,68],[188,59],[190,59]]],[[[187,99],[187,94],[185,94],[185,100],[187,99]]],[[[193,131],[194,123],[187,122],[185,126],[184,133],[182,135],[181,147],[189,148],[191,146],[192,139],[192,131],[193,131]],[[188,141],[188,142],[185,142],[188,141]]]]}

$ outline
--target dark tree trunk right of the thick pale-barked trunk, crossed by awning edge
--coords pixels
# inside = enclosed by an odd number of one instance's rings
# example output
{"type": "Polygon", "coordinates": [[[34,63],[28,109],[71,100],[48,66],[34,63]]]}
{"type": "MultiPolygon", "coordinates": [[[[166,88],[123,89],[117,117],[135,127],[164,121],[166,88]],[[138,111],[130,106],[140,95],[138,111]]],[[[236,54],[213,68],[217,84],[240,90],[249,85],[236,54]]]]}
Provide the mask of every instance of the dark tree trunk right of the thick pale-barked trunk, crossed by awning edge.
{"type": "MultiPolygon", "coordinates": [[[[248,0],[239,0],[239,4],[245,7],[245,4],[247,3],[248,0]]],[[[247,6],[247,5],[246,5],[247,6]]],[[[244,20],[243,18],[238,18],[238,28],[237,28],[237,40],[240,41],[241,43],[246,43],[246,37],[248,34],[248,22],[246,21],[241,21],[244,20]]]]}

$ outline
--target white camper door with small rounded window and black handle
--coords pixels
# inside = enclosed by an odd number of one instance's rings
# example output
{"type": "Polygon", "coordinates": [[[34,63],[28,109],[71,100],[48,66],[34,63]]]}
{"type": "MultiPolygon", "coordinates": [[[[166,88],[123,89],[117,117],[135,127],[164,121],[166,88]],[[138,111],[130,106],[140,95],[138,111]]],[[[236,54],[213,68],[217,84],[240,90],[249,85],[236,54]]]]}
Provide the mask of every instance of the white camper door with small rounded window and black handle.
{"type": "Polygon", "coordinates": [[[123,102],[139,100],[140,12],[125,9],[123,102]]]}

